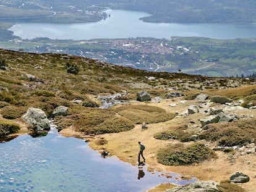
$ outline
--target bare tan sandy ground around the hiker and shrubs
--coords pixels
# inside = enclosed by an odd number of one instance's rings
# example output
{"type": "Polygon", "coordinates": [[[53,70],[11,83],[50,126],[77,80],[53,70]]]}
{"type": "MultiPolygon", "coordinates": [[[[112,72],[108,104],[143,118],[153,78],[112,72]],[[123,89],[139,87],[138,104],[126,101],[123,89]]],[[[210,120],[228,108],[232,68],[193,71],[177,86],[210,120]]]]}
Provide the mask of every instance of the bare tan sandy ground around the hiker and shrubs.
{"type": "MultiPolygon", "coordinates": [[[[142,103],[140,103],[142,104],[142,103]]],[[[160,103],[150,103],[152,106],[162,107],[168,112],[181,112],[187,110],[190,104],[198,104],[197,101],[181,101],[165,99],[160,103]],[[176,107],[170,107],[170,103],[176,103],[176,107]]],[[[236,111],[237,114],[244,115],[256,115],[256,109],[236,111]]],[[[164,166],[159,164],[156,160],[156,152],[158,149],[166,146],[167,143],[176,143],[176,140],[161,141],[153,138],[154,133],[164,130],[174,125],[187,124],[190,125],[190,121],[193,120],[195,124],[200,125],[198,119],[205,116],[205,114],[192,114],[185,117],[176,117],[173,120],[164,123],[149,124],[147,130],[142,130],[141,125],[137,125],[130,131],[121,133],[111,133],[105,135],[96,136],[94,139],[90,138],[90,147],[98,150],[99,152],[108,151],[113,156],[117,156],[121,161],[129,162],[132,165],[136,165],[138,156],[138,141],[145,144],[146,149],[144,156],[146,158],[146,164],[148,170],[158,170],[166,172],[176,172],[184,177],[194,176],[198,180],[212,180],[220,183],[221,180],[228,180],[230,175],[234,172],[242,172],[250,177],[250,182],[240,184],[246,191],[254,192],[256,189],[256,154],[247,154],[241,156],[239,152],[236,152],[236,162],[231,162],[228,154],[217,151],[218,159],[205,161],[201,164],[190,165],[190,166],[164,166]],[[98,138],[105,138],[108,143],[103,146],[97,146],[95,140],[98,138]]],[[[190,126],[191,127],[191,126],[190,126]]],[[[84,135],[76,133],[74,129],[67,128],[61,131],[64,136],[81,136],[84,135]]],[[[212,143],[208,143],[209,146],[213,146],[212,143]]]]}

